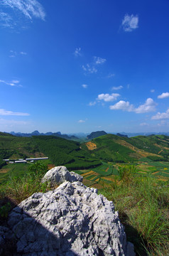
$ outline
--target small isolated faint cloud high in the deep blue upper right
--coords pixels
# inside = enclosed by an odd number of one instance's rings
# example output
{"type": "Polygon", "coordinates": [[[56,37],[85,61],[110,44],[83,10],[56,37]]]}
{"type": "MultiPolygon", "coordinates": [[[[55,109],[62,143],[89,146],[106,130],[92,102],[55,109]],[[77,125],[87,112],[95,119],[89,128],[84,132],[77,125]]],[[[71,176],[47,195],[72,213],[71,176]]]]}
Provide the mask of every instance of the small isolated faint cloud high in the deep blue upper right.
{"type": "Polygon", "coordinates": [[[129,14],[126,14],[121,23],[121,26],[126,32],[133,31],[134,29],[138,28],[138,16],[134,16],[133,14],[129,16],[129,14]]]}

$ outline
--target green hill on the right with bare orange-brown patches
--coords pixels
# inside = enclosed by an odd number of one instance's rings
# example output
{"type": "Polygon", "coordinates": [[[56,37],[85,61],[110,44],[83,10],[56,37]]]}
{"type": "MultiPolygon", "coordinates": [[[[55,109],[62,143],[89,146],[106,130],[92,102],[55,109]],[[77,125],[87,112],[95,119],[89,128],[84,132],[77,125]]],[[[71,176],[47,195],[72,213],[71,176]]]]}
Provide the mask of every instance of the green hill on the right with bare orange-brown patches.
{"type": "Polygon", "coordinates": [[[127,138],[107,134],[82,144],[82,149],[105,161],[168,161],[169,137],[151,135],[127,138]]]}

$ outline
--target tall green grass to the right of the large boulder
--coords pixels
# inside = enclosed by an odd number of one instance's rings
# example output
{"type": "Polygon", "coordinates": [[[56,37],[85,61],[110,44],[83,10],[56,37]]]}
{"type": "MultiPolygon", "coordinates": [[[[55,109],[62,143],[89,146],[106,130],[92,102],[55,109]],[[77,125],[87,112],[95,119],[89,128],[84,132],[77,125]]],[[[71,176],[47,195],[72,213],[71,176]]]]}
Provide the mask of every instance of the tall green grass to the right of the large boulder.
{"type": "Polygon", "coordinates": [[[136,172],[128,170],[128,174],[119,175],[119,181],[99,191],[113,201],[116,210],[119,210],[128,239],[135,245],[138,255],[143,255],[144,246],[149,255],[166,255],[169,233],[168,186],[168,182],[158,181],[151,175],[138,176],[136,172]]]}

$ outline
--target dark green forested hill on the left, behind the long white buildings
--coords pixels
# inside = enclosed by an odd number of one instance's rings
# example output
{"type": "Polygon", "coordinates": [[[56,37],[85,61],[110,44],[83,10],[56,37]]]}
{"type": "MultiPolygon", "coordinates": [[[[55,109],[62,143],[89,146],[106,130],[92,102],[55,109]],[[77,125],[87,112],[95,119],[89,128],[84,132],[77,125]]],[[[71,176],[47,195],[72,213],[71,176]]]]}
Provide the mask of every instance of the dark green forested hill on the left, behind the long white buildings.
{"type": "Polygon", "coordinates": [[[80,149],[78,142],[55,136],[14,137],[0,134],[0,160],[43,156],[48,156],[56,166],[66,165],[68,169],[87,169],[101,164],[101,161],[80,149]]]}

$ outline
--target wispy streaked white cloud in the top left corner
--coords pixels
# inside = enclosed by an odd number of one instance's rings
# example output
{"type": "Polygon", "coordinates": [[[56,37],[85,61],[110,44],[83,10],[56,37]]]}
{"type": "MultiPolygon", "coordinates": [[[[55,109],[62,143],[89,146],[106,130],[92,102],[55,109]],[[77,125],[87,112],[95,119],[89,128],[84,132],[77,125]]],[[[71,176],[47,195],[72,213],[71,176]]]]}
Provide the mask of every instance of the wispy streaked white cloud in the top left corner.
{"type": "Polygon", "coordinates": [[[37,0],[4,0],[2,5],[20,11],[24,16],[31,20],[32,18],[45,20],[45,11],[43,6],[37,0]]]}

